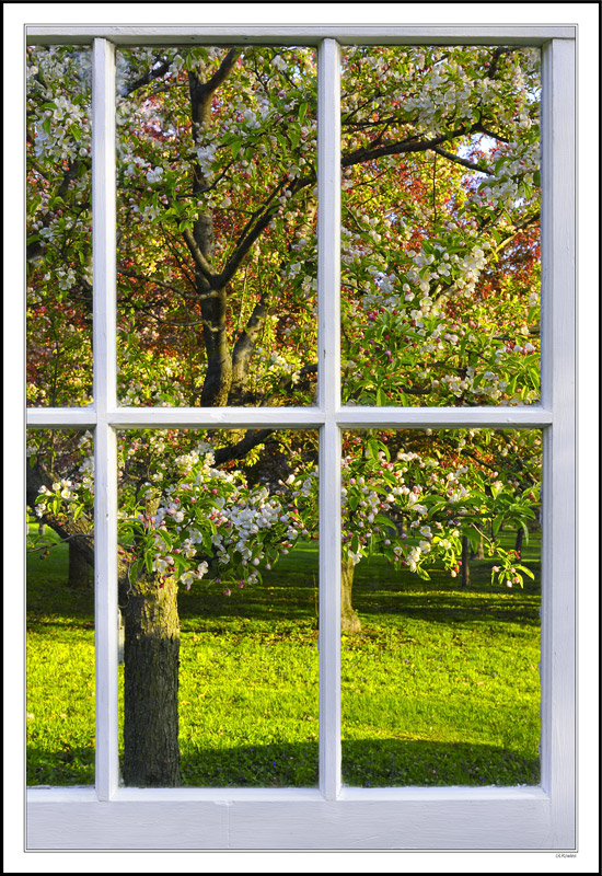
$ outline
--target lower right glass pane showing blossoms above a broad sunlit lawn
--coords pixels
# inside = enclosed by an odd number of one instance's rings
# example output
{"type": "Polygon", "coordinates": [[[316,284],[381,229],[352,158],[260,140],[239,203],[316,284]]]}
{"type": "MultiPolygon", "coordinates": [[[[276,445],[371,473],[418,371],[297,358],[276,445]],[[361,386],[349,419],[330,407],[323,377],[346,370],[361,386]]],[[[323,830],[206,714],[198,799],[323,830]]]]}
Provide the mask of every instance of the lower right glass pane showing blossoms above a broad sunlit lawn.
{"type": "Polygon", "coordinates": [[[541,433],[344,448],[344,782],[536,785],[541,433]]]}

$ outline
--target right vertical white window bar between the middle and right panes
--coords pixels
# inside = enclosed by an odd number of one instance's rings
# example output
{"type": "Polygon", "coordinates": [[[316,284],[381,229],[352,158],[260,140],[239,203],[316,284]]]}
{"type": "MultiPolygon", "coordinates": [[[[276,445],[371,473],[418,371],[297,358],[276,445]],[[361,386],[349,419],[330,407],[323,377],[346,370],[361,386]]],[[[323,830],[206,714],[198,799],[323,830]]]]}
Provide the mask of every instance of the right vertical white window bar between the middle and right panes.
{"type": "Polygon", "coordinates": [[[340,789],[340,49],[317,59],[317,387],[320,433],[320,789],[340,789]]]}

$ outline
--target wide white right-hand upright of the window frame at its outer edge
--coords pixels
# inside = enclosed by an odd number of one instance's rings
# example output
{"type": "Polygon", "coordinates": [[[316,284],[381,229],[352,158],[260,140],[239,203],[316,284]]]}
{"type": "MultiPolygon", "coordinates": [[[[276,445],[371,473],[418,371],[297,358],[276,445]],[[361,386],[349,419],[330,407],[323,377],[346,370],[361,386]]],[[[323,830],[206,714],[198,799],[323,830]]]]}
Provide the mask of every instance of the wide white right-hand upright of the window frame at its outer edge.
{"type": "Polygon", "coordinates": [[[576,840],[576,265],[575,44],[543,51],[542,397],[554,412],[544,443],[542,785],[554,833],[576,840]]]}

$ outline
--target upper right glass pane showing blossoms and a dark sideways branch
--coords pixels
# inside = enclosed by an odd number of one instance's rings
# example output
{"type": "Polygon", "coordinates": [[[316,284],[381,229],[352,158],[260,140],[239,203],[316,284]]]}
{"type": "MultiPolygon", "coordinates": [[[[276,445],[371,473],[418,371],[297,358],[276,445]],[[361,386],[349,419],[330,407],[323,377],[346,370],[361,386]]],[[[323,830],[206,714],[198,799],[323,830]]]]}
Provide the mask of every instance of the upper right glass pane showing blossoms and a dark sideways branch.
{"type": "Polygon", "coordinates": [[[352,47],[343,397],[540,400],[540,51],[352,47]]]}

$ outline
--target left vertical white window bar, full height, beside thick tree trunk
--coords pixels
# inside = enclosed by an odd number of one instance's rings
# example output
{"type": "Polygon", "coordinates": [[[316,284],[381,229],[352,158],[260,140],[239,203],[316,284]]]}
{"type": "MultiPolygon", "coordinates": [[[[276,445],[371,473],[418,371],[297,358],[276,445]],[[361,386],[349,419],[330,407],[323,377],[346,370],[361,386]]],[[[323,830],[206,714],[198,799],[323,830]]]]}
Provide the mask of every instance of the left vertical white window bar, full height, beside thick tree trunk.
{"type": "Polygon", "coordinates": [[[94,405],[94,607],[99,799],[118,784],[116,407],[115,47],[95,39],[92,62],[92,232],[94,405]]]}

